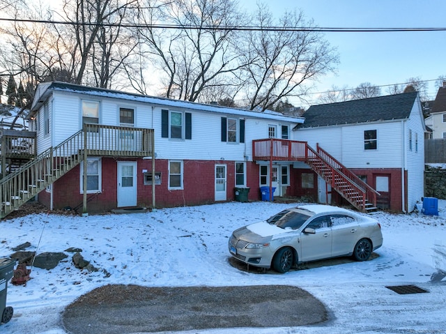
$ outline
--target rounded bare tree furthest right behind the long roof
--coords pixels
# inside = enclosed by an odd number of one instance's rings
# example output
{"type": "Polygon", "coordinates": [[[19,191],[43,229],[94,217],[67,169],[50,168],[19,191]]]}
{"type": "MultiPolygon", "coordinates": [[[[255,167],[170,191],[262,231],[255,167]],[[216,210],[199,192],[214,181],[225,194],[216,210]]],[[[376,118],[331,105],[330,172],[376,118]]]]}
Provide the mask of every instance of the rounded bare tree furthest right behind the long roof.
{"type": "Polygon", "coordinates": [[[276,24],[268,7],[259,4],[252,24],[265,28],[247,31],[237,40],[243,66],[238,79],[249,109],[264,110],[282,98],[303,96],[305,84],[332,71],[338,62],[337,52],[320,33],[292,29],[314,26],[302,12],[286,12],[276,24]],[[268,26],[280,29],[271,31],[268,26]]]}

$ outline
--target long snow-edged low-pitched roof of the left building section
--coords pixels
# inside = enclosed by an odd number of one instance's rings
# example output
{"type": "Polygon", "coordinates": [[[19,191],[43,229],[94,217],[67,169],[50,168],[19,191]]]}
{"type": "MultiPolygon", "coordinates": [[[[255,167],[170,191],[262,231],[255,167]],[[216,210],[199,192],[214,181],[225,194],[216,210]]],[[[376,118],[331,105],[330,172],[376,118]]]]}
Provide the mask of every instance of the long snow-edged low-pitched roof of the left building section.
{"type": "Polygon", "coordinates": [[[82,86],[79,84],[70,84],[67,82],[43,82],[38,85],[36,96],[31,107],[31,114],[37,112],[40,106],[52,91],[66,91],[73,93],[82,93],[89,96],[100,96],[106,98],[118,98],[121,100],[130,100],[139,103],[149,103],[160,107],[174,107],[202,112],[216,112],[220,114],[233,114],[237,116],[253,117],[256,119],[273,119],[276,121],[286,121],[291,123],[303,123],[303,117],[286,116],[279,112],[266,110],[265,112],[256,112],[246,109],[223,107],[220,105],[208,105],[204,103],[194,103],[184,100],[173,100],[170,98],[161,98],[155,96],[146,96],[138,93],[128,93],[125,91],[114,91],[98,87],[82,86]]]}

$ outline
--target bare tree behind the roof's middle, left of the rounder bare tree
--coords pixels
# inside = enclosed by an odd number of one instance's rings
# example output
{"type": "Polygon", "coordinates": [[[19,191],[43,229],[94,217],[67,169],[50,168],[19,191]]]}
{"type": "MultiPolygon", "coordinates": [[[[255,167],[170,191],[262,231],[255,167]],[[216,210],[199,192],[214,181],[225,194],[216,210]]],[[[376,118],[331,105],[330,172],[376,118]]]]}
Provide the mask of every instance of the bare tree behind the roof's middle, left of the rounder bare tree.
{"type": "MultiPolygon", "coordinates": [[[[243,24],[233,0],[172,0],[157,13],[141,15],[149,26],[163,20],[178,29],[144,29],[153,64],[162,73],[163,95],[198,101],[215,84],[229,85],[226,75],[238,68],[231,48],[236,32],[227,27],[243,24]]],[[[144,14],[144,13],[143,13],[144,14]]]]}

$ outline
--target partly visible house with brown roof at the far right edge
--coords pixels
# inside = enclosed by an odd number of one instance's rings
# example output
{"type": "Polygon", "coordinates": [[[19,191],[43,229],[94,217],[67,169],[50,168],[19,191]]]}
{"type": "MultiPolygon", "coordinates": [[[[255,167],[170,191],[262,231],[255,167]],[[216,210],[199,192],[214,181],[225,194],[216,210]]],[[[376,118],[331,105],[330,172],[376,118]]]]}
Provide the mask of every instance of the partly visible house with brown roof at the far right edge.
{"type": "Polygon", "coordinates": [[[432,130],[428,139],[446,139],[446,82],[438,89],[425,123],[432,130]]]}

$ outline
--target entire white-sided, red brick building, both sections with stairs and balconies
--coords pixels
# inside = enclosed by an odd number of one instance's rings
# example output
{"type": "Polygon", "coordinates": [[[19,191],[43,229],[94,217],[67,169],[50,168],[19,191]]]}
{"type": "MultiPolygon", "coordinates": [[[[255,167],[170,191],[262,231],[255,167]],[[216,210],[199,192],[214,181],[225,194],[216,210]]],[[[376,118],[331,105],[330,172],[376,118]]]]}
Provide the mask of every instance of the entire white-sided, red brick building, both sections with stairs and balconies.
{"type": "Polygon", "coordinates": [[[241,188],[249,200],[411,211],[423,196],[420,112],[416,93],[296,117],[45,82],[28,116],[28,162],[0,180],[1,216],[36,196],[87,214],[230,201],[241,188]]]}

